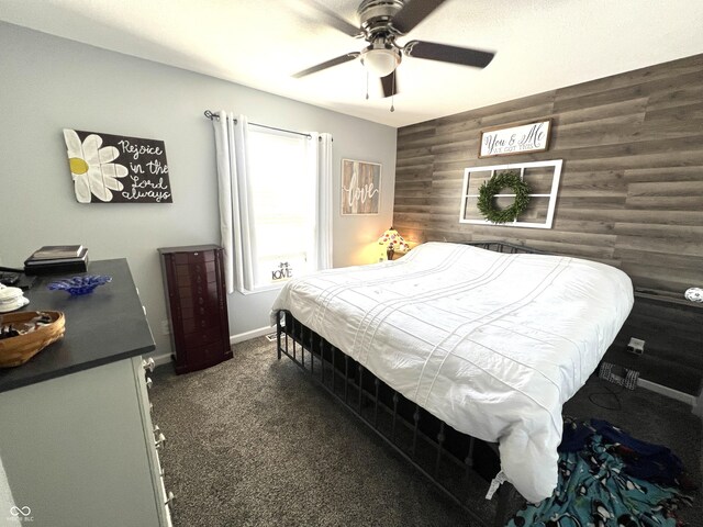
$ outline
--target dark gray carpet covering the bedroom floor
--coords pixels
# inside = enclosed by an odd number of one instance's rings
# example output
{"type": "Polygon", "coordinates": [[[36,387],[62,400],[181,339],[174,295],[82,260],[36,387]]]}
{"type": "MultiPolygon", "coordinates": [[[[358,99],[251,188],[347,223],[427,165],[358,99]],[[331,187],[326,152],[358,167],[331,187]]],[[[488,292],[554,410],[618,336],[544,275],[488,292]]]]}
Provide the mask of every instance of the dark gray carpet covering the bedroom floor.
{"type": "MultiPolygon", "coordinates": [[[[154,380],[175,527],[471,525],[290,360],[279,362],[263,337],[236,345],[234,358],[216,367],[175,375],[165,366],[154,380]]],[[[701,422],[689,407],[637,390],[620,395],[623,410],[605,411],[588,400],[604,391],[602,381],[589,381],[566,413],[668,445],[700,482],[701,422]]],[[[614,404],[611,395],[595,400],[614,404]]],[[[486,489],[478,480],[472,503],[489,520],[486,489]]],[[[694,527],[703,526],[700,502],[682,514],[694,527]]]]}

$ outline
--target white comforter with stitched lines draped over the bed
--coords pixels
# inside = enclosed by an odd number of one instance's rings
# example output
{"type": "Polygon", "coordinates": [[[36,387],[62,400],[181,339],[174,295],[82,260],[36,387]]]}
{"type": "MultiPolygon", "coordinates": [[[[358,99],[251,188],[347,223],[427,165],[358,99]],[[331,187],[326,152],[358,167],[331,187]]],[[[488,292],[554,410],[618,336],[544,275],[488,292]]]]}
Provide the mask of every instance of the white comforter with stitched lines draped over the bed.
{"type": "Polygon", "coordinates": [[[632,305],[627,274],[603,264],[427,243],[292,280],[271,315],[289,310],[448,425],[498,441],[507,480],[538,502],[557,484],[561,405],[632,305]]]}

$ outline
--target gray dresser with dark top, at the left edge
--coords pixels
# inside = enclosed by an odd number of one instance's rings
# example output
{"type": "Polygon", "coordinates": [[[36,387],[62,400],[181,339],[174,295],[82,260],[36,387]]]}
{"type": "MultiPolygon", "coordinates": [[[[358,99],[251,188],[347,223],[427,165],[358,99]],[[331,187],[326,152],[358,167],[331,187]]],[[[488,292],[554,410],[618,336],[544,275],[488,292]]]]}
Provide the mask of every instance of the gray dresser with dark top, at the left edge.
{"type": "MultiPolygon", "coordinates": [[[[42,277],[27,292],[24,310],[63,311],[66,335],[0,370],[0,459],[13,512],[37,527],[170,526],[144,309],[126,260],[91,262],[89,273],[113,280],[71,298],[42,277]]],[[[9,513],[0,511],[0,525],[9,513]]]]}

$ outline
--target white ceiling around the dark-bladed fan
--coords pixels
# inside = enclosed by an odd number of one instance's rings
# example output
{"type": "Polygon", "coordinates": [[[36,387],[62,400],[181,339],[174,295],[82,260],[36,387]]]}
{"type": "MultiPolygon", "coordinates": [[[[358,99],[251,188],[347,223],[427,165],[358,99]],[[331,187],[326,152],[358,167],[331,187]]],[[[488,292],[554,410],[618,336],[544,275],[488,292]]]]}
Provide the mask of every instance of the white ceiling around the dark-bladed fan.
{"type": "MultiPolygon", "coordinates": [[[[358,25],[360,0],[316,0],[358,25]]],[[[405,57],[400,93],[380,98],[315,0],[0,0],[0,20],[198,71],[390,126],[404,126],[703,53],[701,0],[446,0],[401,44],[496,52],[483,70],[405,57]]],[[[233,109],[236,110],[236,109],[233,109]]]]}

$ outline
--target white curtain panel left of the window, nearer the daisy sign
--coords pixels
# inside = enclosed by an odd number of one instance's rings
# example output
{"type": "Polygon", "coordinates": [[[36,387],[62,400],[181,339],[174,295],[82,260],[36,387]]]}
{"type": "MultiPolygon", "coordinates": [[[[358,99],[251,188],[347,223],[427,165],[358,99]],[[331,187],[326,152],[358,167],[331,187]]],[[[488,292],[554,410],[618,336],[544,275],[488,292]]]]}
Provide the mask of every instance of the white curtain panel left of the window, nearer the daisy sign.
{"type": "Polygon", "coordinates": [[[245,115],[234,116],[221,110],[213,119],[217,156],[217,189],[220,201],[220,235],[224,248],[224,271],[227,293],[254,290],[252,255],[256,249],[252,235],[250,186],[247,180],[246,142],[248,122],[245,115]]]}

